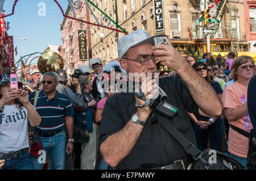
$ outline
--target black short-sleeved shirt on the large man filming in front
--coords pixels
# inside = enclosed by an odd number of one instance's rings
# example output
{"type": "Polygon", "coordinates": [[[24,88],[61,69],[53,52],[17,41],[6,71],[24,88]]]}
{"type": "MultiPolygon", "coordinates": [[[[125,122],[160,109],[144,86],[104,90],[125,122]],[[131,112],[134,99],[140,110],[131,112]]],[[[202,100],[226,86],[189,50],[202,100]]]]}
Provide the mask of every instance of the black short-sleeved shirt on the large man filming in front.
{"type": "MultiPolygon", "coordinates": [[[[166,92],[168,96],[167,102],[177,108],[175,116],[165,117],[189,141],[196,145],[195,136],[186,110],[192,113],[199,112],[198,106],[192,99],[187,87],[180,79],[173,77],[160,78],[159,86],[166,92]]],[[[101,145],[106,138],[125,127],[135,112],[137,110],[134,93],[121,92],[110,96],[105,103],[102,113],[99,144],[101,145]]],[[[154,122],[148,118],[134,148],[116,168],[147,169],[172,164],[174,161],[184,158],[187,158],[187,156],[171,134],[158,121],[154,122]]]]}

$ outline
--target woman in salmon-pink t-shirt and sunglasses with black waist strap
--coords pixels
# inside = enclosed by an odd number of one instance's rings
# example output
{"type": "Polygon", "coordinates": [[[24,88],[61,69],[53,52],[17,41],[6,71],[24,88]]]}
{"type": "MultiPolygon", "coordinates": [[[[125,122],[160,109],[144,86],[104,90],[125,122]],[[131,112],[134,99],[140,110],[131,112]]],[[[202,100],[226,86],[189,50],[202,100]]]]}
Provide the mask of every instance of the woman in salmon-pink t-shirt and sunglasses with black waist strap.
{"type": "Polygon", "coordinates": [[[222,95],[225,115],[230,124],[228,151],[231,157],[237,159],[246,168],[249,138],[245,135],[253,129],[247,108],[247,88],[254,75],[254,67],[253,58],[237,57],[233,61],[229,75],[234,79],[234,83],[226,87],[222,95]]]}

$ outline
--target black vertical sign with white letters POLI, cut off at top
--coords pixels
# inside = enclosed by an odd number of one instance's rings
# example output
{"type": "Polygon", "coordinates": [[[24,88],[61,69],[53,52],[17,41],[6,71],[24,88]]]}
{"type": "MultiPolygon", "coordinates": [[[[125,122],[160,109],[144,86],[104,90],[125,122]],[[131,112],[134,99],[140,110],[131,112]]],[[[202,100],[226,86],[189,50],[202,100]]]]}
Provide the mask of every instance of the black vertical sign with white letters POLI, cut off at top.
{"type": "Polygon", "coordinates": [[[155,7],[155,32],[164,32],[163,1],[154,0],[155,7]]]}

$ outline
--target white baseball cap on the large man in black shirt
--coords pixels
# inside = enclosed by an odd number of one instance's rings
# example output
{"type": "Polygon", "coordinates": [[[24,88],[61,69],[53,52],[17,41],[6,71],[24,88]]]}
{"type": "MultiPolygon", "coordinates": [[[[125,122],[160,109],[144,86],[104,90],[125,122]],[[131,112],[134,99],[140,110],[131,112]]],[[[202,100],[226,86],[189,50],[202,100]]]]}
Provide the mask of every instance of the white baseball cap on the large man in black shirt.
{"type": "Polygon", "coordinates": [[[150,36],[145,30],[136,30],[131,32],[129,35],[121,37],[118,41],[118,58],[122,58],[123,55],[132,47],[138,47],[146,44],[155,44],[154,38],[159,36],[167,36],[164,34],[159,34],[155,36],[150,36]]]}

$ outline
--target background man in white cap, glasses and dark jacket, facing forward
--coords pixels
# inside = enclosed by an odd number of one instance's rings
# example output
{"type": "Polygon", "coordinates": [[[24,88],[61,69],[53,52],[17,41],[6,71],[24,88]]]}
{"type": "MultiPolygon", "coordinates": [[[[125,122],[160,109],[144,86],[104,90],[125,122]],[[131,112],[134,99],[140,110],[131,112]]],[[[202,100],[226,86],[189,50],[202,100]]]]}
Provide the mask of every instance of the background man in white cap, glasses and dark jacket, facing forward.
{"type": "Polygon", "coordinates": [[[95,72],[95,76],[93,78],[93,89],[92,89],[92,95],[93,98],[98,102],[101,99],[101,96],[104,96],[104,90],[100,89],[100,82],[102,77],[98,77],[100,73],[102,73],[102,61],[100,58],[90,58],[89,60],[90,68],[92,68],[95,72]]]}

